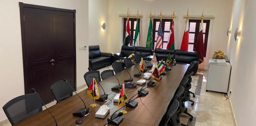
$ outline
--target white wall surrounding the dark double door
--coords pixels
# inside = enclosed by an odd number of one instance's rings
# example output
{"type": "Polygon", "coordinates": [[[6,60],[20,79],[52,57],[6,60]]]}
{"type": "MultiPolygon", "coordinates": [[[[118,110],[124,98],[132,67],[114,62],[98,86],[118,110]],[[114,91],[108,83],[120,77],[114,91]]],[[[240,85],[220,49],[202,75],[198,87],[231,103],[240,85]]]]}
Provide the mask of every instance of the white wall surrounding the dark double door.
{"type": "MultiPolygon", "coordinates": [[[[19,2],[41,6],[76,9],[76,76],[77,86],[85,84],[83,74],[88,67],[88,0],[0,0],[0,108],[6,102],[24,95],[19,2]]],[[[0,109],[0,120],[5,119],[0,109]]]]}

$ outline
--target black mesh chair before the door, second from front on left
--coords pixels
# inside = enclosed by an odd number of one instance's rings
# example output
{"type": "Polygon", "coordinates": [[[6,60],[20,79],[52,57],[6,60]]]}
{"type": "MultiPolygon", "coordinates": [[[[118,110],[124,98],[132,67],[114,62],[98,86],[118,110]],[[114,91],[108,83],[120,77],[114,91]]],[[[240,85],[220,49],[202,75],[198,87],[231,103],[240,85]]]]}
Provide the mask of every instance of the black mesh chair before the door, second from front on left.
{"type": "MultiPolygon", "coordinates": [[[[69,82],[69,80],[67,80],[69,82]]],[[[51,91],[57,103],[69,98],[73,95],[73,89],[68,85],[69,83],[59,80],[51,86],[51,91]]],[[[71,86],[72,87],[72,86],[71,86]]]]}

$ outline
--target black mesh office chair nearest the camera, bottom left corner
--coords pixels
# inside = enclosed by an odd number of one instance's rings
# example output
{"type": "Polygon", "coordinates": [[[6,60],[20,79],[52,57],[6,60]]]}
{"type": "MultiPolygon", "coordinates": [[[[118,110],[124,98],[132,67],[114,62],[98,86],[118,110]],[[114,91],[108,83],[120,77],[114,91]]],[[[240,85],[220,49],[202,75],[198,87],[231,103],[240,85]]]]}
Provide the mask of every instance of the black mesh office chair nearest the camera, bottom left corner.
{"type": "Polygon", "coordinates": [[[42,103],[35,94],[26,94],[13,98],[3,106],[3,109],[11,125],[15,125],[42,111],[42,103]]]}

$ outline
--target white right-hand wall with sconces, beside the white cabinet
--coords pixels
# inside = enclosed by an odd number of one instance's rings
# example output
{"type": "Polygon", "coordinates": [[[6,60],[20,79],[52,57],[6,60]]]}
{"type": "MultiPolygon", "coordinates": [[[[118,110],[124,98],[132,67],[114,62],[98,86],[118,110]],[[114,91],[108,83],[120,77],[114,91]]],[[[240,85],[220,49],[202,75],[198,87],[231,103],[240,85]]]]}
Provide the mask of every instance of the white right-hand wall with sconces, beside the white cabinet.
{"type": "Polygon", "coordinates": [[[230,21],[228,57],[232,65],[230,76],[231,102],[238,126],[256,124],[256,17],[255,0],[234,0],[230,21]],[[239,40],[234,31],[241,30],[239,40]]]}

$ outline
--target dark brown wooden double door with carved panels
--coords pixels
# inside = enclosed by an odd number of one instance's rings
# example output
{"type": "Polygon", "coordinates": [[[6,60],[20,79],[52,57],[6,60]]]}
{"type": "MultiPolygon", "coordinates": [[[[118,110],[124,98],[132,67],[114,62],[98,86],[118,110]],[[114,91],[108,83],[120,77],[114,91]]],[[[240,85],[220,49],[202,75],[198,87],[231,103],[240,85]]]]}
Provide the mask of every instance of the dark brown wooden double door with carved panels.
{"type": "Polygon", "coordinates": [[[25,93],[35,88],[49,103],[54,100],[54,82],[66,78],[75,87],[75,13],[26,7],[22,11],[25,93]]]}

